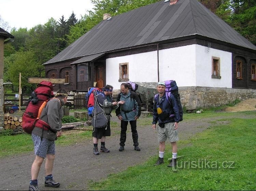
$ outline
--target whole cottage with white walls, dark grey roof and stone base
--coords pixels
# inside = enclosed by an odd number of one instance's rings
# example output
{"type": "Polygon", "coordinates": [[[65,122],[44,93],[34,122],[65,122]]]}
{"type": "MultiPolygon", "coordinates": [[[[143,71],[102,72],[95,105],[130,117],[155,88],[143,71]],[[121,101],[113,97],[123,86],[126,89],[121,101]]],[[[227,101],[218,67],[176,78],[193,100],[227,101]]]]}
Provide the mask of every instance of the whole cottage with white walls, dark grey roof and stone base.
{"type": "Polygon", "coordinates": [[[110,17],[44,63],[86,92],[94,82],[173,79],[186,109],[256,97],[256,46],[197,0],[165,0],[110,17]]]}

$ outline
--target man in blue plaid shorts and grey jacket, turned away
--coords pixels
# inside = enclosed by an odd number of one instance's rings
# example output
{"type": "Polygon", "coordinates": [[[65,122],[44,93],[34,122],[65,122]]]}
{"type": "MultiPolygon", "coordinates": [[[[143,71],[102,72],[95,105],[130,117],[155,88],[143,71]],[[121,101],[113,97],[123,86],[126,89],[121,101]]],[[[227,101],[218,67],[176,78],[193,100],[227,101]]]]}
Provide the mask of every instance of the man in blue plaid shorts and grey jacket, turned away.
{"type": "Polygon", "coordinates": [[[53,180],[52,170],[55,159],[55,140],[61,136],[62,106],[67,103],[67,100],[68,92],[65,89],[59,89],[55,98],[47,102],[40,115],[40,119],[49,124],[50,129],[45,130],[35,126],[32,131],[35,160],[31,167],[29,190],[39,190],[37,178],[44,158],[46,158],[44,186],[54,188],[60,186],[60,183],[53,180]]]}

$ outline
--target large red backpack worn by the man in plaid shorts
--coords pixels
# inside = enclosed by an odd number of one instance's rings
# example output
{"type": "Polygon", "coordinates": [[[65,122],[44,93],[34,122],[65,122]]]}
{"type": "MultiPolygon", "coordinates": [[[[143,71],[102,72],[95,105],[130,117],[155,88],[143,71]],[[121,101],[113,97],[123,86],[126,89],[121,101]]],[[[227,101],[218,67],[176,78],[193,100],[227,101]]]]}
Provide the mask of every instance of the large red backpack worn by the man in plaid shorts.
{"type": "Polygon", "coordinates": [[[43,109],[43,107],[41,107],[42,104],[44,103],[43,106],[45,106],[53,95],[53,84],[47,81],[40,82],[37,88],[32,92],[27,108],[22,116],[22,128],[26,133],[31,134],[34,126],[43,128],[46,131],[50,128],[49,125],[40,120],[39,117],[43,109]]]}

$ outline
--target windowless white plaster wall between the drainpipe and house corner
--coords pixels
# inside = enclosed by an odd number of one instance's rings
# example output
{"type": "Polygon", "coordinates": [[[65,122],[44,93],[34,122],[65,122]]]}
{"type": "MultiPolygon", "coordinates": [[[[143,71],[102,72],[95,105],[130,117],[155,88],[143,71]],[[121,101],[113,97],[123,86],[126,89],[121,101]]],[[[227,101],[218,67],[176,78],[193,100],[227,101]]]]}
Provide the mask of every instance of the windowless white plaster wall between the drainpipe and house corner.
{"type": "Polygon", "coordinates": [[[196,45],[159,51],[159,80],[175,80],[178,87],[196,86],[196,45]]]}

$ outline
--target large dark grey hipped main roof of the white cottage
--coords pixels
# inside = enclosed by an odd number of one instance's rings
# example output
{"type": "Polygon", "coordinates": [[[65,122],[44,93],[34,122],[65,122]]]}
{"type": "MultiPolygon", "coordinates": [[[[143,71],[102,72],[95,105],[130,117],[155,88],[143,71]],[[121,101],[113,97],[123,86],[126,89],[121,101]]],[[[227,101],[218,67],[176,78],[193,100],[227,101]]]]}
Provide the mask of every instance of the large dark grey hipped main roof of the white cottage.
{"type": "Polygon", "coordinates": [[[197,0],[159,1],[101,21],[45,64],[194,34],[256,50],[197,0]]]}

